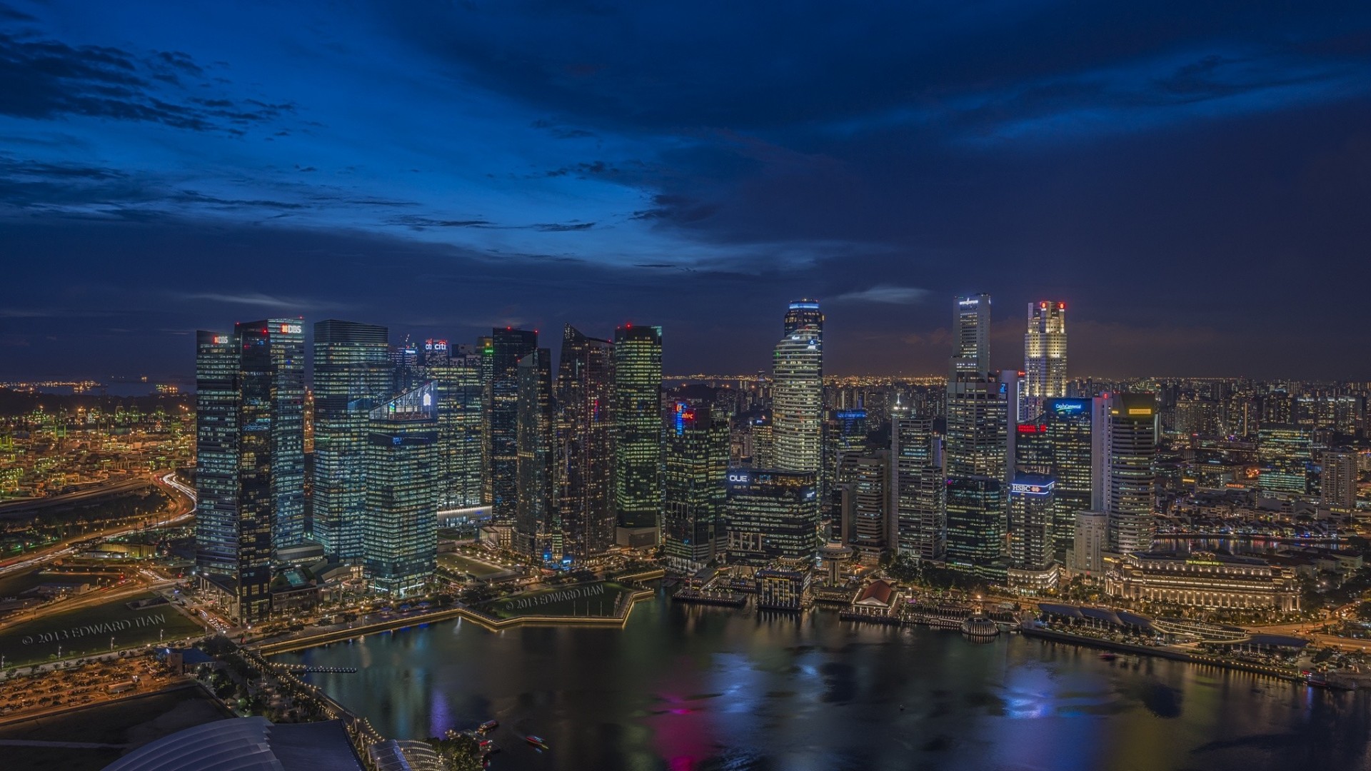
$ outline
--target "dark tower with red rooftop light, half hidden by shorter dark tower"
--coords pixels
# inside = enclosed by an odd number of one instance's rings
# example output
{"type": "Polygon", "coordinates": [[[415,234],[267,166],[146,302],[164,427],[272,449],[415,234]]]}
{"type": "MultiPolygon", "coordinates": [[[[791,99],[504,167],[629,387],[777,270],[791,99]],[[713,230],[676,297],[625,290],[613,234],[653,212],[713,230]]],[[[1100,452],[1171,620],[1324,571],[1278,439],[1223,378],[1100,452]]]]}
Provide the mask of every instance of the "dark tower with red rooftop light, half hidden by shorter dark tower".
{"type": "Polygon", "coordinates": [[[491,514],[514,521],[518,501],[518,362],[537,348],[537,332],[491,331],[491,375],[485,388],[489,431],[485,434],[491,476],[491,514]]]}

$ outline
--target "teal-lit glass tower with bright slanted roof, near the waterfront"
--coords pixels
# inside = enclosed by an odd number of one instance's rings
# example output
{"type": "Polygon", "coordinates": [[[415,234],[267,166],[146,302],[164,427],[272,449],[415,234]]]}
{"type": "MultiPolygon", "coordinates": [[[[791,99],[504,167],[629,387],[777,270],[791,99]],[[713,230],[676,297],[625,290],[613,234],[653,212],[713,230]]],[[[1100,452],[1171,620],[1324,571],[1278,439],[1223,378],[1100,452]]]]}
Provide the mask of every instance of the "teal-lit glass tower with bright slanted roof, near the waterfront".
{"type": "Polygon", "coordinates": [[[370,413],[366,440],[367,582],[395,597],[422,594],[437,561],[437,390],[424,383],[370,413]]]}

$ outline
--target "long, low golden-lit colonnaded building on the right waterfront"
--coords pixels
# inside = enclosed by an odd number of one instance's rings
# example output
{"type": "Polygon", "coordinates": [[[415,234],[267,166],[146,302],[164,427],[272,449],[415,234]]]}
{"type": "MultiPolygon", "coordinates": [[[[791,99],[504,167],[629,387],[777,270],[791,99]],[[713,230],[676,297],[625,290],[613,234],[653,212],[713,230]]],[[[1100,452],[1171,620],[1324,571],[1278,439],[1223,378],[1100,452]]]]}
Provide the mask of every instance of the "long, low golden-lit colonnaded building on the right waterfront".
{"type": "Polygon", "coordinates": [[[1115,597],[1187,608],[1293,612],[1300,587],[1293,571],[1256,557],[1204,551],[1128,554],[1105,579],[1115,597]]]}

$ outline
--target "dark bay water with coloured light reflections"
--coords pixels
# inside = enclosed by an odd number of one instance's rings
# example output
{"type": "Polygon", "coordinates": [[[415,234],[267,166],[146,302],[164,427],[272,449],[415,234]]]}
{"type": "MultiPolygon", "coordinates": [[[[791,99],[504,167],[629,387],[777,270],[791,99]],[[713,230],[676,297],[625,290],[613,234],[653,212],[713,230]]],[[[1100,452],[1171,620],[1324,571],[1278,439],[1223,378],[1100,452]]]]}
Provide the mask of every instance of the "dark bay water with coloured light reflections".
{"type": "Polygon", "coordinates": [[[622,630],[458,620],[278,660],[358,667],[307,678],[387,737],[498,719],[492,768],[1371,768],[1367,693],[664,594],[622,630]]]}

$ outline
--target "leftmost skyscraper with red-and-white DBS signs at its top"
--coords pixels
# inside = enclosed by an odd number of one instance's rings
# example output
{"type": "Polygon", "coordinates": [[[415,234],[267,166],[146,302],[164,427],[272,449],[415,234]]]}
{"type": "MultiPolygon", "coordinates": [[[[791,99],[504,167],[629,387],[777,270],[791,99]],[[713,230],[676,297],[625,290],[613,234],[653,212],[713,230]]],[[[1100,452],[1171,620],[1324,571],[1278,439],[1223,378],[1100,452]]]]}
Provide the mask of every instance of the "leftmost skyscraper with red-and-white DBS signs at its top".
{"type": "Polygon", "coordinates": [[[298,318],[196,335],[196,569],[252,623],[274,549],[304,539],[304,333],[298,318]]]}

